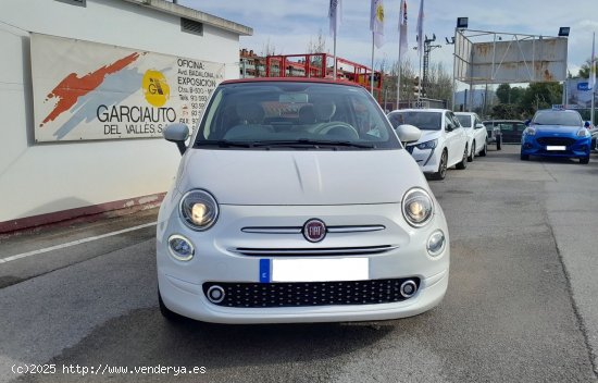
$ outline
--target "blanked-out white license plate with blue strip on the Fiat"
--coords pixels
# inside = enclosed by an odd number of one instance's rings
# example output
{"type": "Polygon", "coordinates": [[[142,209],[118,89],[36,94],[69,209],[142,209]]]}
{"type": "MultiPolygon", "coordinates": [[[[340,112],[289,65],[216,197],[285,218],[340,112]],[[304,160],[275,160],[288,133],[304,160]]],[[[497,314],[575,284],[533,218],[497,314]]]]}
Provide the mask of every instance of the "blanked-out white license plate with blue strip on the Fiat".
{"type": "MultiPolygon", "coordinates": [[[[370,261],[367,258],[273,259],[270,275],[267,282],[366,281],[370,261]]],[[[261,282],[266,281],[261,279],[261,282]]]]}

